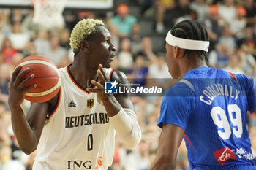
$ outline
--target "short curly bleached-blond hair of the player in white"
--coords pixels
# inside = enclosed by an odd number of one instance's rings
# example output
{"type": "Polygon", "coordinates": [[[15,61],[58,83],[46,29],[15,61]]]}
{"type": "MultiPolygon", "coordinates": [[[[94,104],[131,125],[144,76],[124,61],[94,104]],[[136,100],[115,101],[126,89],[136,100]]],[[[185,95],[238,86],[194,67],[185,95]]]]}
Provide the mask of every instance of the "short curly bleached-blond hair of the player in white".
{"type": "Polygon", "coordinates": [[[104,26],[104,23],[101,20],[83,19],[75,25],[69,39],[70,46],[74,52],[78,51],[80,41],[86,39],[87,36],[95,31],[96,25],[104,26]]]}

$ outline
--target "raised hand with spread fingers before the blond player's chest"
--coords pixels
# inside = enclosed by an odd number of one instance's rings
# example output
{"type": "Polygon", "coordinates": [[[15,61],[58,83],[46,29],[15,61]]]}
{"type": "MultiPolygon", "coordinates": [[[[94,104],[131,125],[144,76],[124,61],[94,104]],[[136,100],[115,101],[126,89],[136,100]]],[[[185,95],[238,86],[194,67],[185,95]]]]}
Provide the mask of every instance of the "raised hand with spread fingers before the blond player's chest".
{"type": "Polygon", "coordinates": [[[99,76],[99,82],[96,82],[95,80],[91,80],[91,84],[95,85],[95,88],[87,88],[86,90],[92,93],[97,93],[97,97],[101,101],[108,100],[110,97],[113,97],[113,95],[105,94],[105,82],[109,81],[109,79],[106,76],[101,64],[99,64],[99,69],[97,70],[97,74],[99,76]]]}

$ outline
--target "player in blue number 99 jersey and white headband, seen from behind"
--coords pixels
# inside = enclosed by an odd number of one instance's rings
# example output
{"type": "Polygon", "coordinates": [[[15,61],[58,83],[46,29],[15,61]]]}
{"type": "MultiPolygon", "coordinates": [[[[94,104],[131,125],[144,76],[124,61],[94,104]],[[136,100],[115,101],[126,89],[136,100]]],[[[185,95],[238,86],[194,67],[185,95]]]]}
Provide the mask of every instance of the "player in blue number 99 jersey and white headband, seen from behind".
{"type": "Polygon", "coordinates": [[[246,129],[247,111],[255,109],[255,85],[242,74],[207,66],[208,34],[192,20],[166,36],[170,74],[181,79],[162,99],[162,128],[150,170],[173,170],[182,138],[190,169],[256,169],[246,129]]]}

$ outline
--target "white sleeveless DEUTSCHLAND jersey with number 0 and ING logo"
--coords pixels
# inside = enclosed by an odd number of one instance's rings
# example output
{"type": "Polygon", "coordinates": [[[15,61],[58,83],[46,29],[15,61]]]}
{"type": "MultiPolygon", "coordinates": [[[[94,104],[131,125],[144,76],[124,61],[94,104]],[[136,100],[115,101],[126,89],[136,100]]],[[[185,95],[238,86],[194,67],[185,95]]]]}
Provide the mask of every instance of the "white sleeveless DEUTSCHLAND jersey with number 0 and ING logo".
{"type": "MultiPolygon", "coordinates": [[[[110,76],[113,69],[105,69],[110,76]]],[[[116,131],[96,93],[88,93],[59,69],[61,93],[45,123],[37,147],[34,170],[108,169],[113,161],[116,131]]]]}

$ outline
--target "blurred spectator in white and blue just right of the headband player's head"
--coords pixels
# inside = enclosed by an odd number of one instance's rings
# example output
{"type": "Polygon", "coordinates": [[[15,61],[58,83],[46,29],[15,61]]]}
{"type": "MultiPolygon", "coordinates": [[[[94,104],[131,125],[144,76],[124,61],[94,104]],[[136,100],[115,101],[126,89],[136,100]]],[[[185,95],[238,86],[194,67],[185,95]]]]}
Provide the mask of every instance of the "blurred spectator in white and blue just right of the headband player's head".
{"type": "Polygon", "coordinates": [[[231,51],[225,43],[216,45],[216,50],[209,53],[209,65],[219,69],[227,66],[231,51]]]}

